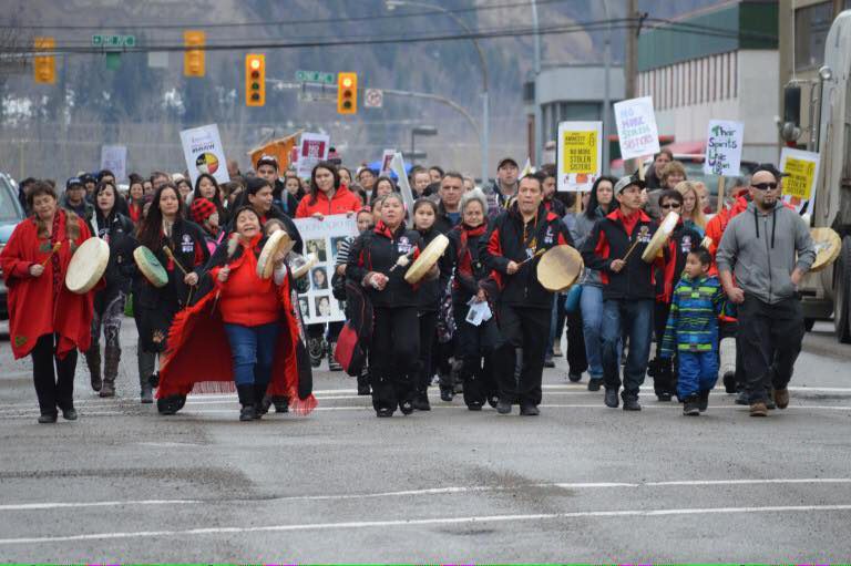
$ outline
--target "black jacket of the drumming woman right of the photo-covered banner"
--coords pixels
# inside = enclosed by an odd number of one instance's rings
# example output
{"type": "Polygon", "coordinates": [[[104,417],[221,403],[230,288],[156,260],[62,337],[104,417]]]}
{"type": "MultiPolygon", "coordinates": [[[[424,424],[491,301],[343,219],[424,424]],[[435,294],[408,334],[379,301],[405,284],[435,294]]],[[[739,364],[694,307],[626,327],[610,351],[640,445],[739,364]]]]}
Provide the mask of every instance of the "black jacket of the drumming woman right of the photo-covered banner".
{"type": "Polygon", "coordinates": [[[363,285],[363,278],[370,271],[385,274],[390,278],[387,287],[379,291],[371,285],[365,286],[367,297],[373,307],[418,307],[420,297],[418,289],[404,280],[408,267],[390,268],[396,265],[399,256],[403,256],[420,247],[420,233],[409,230],[404,225],[396,233],[379,222],[372,231],[358,236],[349,249],[349,260],[346,264],[346,277],[358,285],[363,285]]]}

